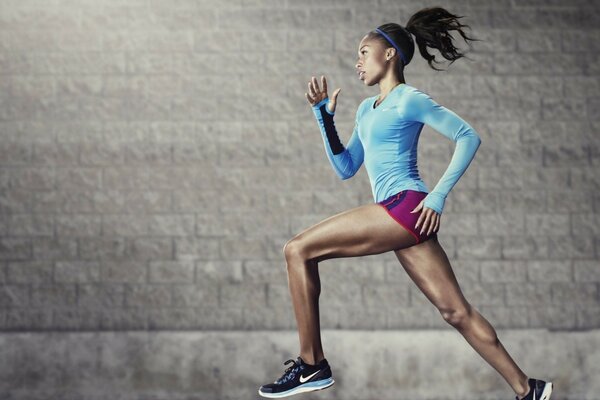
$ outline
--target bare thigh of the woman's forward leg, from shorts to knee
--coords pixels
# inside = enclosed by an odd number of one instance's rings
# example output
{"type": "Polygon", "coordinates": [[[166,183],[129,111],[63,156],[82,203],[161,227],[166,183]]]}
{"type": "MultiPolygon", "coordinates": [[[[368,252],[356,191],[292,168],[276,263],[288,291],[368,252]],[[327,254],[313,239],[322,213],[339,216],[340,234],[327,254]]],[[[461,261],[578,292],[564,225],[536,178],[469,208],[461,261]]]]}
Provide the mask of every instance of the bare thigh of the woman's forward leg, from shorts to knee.
{"type": "Polygon", "coordinates": [[[294,236],[286,256],[307,260],[380,254],[412,246],[414,236],[376,203],[333,215],[294,236]]]}

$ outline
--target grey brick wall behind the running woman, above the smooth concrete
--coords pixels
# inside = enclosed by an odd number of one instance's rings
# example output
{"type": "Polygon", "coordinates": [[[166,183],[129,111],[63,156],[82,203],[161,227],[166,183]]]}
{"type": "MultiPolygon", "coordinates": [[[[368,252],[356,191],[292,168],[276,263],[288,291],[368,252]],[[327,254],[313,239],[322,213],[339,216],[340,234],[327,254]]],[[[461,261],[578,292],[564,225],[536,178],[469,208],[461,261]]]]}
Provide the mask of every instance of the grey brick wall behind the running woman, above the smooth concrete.
{"type": "MultiPolygon", "coordinates": [[[[472,60],[407,82],[482,146],[440,241],[498,328],[600,326],[600,15],[594,1],[0,2],[0,329],[294,329],[283,245],[372,202],[341,181],[304,98],[377,93],[362,36],[465,15],[472,60]]],[[[453,145],[426,127],[432,188],[453,145]]],[[[392,253],[321,263],[321,326],[452,329],[392,253]]]]}

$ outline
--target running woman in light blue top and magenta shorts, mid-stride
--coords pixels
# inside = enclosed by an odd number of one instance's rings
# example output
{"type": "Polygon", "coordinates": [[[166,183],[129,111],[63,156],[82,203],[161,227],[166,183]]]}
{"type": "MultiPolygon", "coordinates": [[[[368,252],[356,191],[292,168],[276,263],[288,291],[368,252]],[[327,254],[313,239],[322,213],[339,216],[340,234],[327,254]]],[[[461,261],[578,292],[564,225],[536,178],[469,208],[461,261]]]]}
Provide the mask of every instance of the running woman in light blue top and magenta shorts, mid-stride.
{"type": "Polygon", "coordinates": [[[450,31],[467,40],[459,16],[439,7],[415,13],[402,27],[381,25],[358,47],[358,77],[379,84],[380,95],[358,106],[355,126],[344,146],[335,129],[338,88],[330,100],[327,81],[312,77],[306,98],[318,121],[325,151],[335,173],[348,179],[364,163],[374,203],[329,217],[304,230],[284,247],[288,285],[300,336],[300,355],[289,359],[284,374],[260,387],[264,397],[285,397],[333,385],[331,367],[323,354],[319,326],[318,263],[394,251],[408,275],[439,310],[516,393],[516,400],[548,400],[552,382],[530,378],[517,366],[490,323],[463,296],[448,257],[437,239],[444,201],[463,175],[481,143],[477,132],[453,111],[405,82],[404,67],[416,44],[435,70],[438,63],[427,47],[454,62],[464,56],[452,43],[450,31]],[[455,143],[448,168],[432,191],[419,176],[417,143],[424,124],[455,143]]]}

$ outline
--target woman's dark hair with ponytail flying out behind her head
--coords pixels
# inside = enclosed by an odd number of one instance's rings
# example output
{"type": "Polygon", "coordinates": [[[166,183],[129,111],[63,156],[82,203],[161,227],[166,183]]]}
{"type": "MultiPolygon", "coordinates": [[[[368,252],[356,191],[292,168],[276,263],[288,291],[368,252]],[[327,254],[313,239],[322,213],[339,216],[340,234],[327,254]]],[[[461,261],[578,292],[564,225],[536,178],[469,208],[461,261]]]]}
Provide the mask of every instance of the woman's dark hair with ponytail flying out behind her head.
{"type": "MultiPolygon", "coordinates": [[[[467,40],[480,41],[465,34],[461,28],[471,29],[471,27],[460,23],[460,18],[463,18],[463,16],[454,15],[441,7],[423,8],[410,17],[406,27],[389,23],[381,25],[379,29],[383,30],[400,47],[406,59],[406,63],[403,63],[402,58],[400,58],[400,65],[406,66],[413,57],[415,51],[415,45],[411,36],[413,34],[421,56],[427,60],[431,68],[441,71],[441,69],[433,65],[433,63],[439,64],[441,62],[436,60],[435,56],[427,51],[427,47],[437,49],[442,57],[449,60],[450,64],[452,64],[461,57],[469,57],[459,52],[458,48],[454,46],[450,31],[458,31],[467,44],[469,44],[467,40]]],[[[379,35],[381,40],[386,43],[386,46],[390,45],[383,35],[380,35],[376,31],[374,34],[379,35]]]]}

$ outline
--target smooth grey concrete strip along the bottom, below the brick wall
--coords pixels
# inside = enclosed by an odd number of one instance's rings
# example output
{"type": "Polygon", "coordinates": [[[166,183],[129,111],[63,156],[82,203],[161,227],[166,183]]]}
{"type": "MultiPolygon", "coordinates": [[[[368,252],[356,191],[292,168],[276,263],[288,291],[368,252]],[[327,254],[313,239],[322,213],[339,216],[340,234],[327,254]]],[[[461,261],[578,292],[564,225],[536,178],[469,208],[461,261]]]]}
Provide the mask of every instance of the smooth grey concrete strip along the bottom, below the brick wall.
{"type": "MultiPolygon", "coordinates": [[[[600,330],[498,330],[552,400],[600,399],[600,330]]],[[[323,330],[335,384],[300,399],[514,399],[453,330],[323,330]]],[[[295,331],[0,335],[1,399],[259,399],[298,355],[295,331]]]]}

